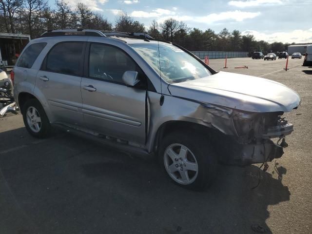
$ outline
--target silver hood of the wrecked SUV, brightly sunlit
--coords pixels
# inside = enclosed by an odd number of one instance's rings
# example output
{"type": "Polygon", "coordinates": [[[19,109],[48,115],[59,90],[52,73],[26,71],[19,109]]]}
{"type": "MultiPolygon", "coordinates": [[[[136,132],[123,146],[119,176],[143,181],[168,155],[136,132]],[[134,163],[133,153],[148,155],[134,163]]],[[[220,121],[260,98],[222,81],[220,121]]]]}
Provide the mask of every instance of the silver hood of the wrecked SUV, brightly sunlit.
{"type": "Polygon", "coordinates": [[[290,112],[300,97],[273,80],[218,72],[206,78],[173,83],[171,95],[249,112],[290,112]]]}

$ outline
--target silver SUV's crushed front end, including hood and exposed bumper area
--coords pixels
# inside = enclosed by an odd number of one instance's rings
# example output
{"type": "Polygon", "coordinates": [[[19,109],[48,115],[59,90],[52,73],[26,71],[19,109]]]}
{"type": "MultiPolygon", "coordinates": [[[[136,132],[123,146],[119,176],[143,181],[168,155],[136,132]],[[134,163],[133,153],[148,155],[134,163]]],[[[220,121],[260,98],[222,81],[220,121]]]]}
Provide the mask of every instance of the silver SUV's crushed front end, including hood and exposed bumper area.
{"type": "Polygon", "coordinates": [[[219,72],[209,79],[171,84],[169,89],[173,95],[201,103],[192,117],[216,130],[211,140],[219,161],[249,165],[281,157],[288,146],[285,137],[293,131],[283,114],[300,105],[299,96],[272,80],[229,75],[219,72]]]}

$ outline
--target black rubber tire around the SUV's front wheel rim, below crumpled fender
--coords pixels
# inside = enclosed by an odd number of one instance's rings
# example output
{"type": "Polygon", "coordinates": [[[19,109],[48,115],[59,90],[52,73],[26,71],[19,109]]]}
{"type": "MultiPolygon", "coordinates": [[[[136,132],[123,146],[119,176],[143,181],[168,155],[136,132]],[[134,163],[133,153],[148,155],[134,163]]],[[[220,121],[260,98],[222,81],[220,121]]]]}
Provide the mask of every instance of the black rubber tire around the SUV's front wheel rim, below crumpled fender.
{"type": "MultiPolygon", "coordinates": [[[[190,135],[180,131],[165,136],[160,142],[158,161],[171,181],[183,188],[204,190],[209,187],[215,179],[217,157],[207,136],[198,134],[190,137],[190,135]],[[164,163],[165,151],[172,144],[182,144],[186,146],[195,156],[198,164],[198,173],[197,177],[191,184],[178,183],[166,170],[164,163]]],[[[175,162],[173,161],[173,163],[175,162]]]]}

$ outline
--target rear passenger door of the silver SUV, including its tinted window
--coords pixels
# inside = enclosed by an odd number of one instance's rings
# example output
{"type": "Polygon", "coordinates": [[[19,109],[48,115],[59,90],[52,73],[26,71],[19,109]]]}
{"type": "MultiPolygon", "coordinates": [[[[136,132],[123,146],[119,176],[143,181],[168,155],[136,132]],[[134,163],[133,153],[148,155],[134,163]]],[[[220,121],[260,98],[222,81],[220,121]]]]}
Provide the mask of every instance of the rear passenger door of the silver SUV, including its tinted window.
{"type": "Polygon", "coordinates": [[[53,122],[82,125],[80,83],[84,49],[83,41],[54,45],[37,74],[36,87],[46,98],[53,122]]]}

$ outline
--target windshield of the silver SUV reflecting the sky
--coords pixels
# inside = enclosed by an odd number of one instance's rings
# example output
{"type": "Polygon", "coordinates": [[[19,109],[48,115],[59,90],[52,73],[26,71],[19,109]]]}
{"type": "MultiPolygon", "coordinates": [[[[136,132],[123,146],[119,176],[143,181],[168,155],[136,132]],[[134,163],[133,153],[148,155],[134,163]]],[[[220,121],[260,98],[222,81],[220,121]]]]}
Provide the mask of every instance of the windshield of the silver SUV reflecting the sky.
{"type": "Polygon", "coordinates": [[[169,43],[130,44],[137,53],[168,83],[178,83],[210,76],[199,61],[169,43]]]}

